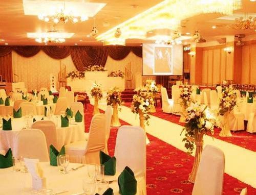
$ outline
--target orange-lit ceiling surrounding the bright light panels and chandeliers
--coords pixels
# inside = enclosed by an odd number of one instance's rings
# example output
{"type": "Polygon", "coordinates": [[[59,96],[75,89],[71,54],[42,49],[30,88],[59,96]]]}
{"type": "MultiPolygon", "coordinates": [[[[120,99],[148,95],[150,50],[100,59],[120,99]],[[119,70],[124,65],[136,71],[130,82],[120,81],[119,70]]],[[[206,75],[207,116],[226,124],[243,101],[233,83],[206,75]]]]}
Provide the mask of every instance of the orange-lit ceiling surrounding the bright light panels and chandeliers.
{"type": "MultiPolygon", "coordinates": [[[[34,1],[34,0],[30,0],[34,1]]],[[[54,0],[50,0],[54,1],[54,0]]],[[[68,1],[68,0],[67,0],[68,1]]],[[[94,16],[96,19],[96,27],[99,34],[108,31],[109,29],[118,25],[137,14],[155,6],[162,2],[161,0],[69,0],[69,2],[90,2],[90,3],[104,3],[101,10],[94,16]]],[[[233,22],[234,17],[244,15],[244,12],[250,13],[252,16],[256,15],[256,2],[249,0],[243,1],[243,9],[237,10],[234,16],[223,17],[221,14],[204,14],[187,18],[182,21],[182,27],[179,29],[181,33],[193,34],[195,30],[199,30],[200,34],[208,40],[215,40],[219,37],[235,35],[235,34],[256,34],[250,30],[233,30],[227,28],[233,22]],[[217,26],[212,29],[212,26],[217,26]]],[[[25,15],[23,0],[0,0],[0,45],[42,45],[42,43],[35,42],[32,38],[27,38],[27,33],[44,33],[53,29],[52,23],[40,21],[35,15],[25,15]],[[4,41],[1,41],[4,39],[4,41]]],[[[79,23],[67,23],[55,26],[55,29],[63,33],[74,33],[74,35],[66,39],[65,43],[58,43],[59,45],[102,45],[92,37],[87,37],[90,34],[94,25],[93,17],[89,20],[79,23]]],[[[141,44],[141,40],[129,40],[127,45],[141,44]]],[[[147,41],[143,41],[147,42],[147,41]]]]}

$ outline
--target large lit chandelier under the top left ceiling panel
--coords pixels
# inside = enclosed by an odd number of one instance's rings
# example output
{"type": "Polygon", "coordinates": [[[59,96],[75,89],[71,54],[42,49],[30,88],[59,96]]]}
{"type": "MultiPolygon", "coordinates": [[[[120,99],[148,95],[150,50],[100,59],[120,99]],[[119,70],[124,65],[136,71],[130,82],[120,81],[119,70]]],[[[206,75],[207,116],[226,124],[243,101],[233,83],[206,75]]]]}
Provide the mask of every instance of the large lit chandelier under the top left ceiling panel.
{"type": "Polygon", "coordinates": [[[88,20],[88,16],[81,15],[78,16],[72,12],[72,10],[69,10],[66,8],[65,1],[62,2],[62,6],[59,9],[56,9],[57,11],[47,15],[47,14],[39,14],[38,19],[45,21],[45,22],[64,22],[67,23],[68,21],[71,21],[72,23],[82,22],[88,20]]]}

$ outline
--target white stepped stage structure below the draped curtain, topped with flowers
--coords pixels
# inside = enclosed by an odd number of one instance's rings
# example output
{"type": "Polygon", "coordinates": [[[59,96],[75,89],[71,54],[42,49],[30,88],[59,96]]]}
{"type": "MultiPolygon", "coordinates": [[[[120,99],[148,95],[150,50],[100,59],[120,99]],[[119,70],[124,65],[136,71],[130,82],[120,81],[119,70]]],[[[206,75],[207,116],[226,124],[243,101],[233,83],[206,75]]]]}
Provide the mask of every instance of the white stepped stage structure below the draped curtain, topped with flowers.
{"type": "Polygon", "coordinates": [[[89,92],[95,81],[102,86],[103,91],[114,86],[124,90],[125,79],[121,77],[108,77],[108,74],[108,71],[86,71],[83,79],[72,80],[68,78],[67,84],[71,87],[72,91],[89,92]]]}

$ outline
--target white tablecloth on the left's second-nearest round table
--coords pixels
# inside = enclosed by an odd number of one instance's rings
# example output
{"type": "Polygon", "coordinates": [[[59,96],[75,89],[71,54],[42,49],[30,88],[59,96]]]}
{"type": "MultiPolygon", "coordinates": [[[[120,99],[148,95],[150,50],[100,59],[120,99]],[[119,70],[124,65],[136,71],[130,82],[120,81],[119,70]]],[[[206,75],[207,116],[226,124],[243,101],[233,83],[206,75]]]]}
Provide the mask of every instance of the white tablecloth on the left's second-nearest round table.
{"type": "MultiPolygon", "coordinates": [[[[43,116],[34,116],[36,120],[40,120],[43,116]]],[[[49,119],[44,117],[45,120],[49,119]]],[[[59,147],[62,145],[66,145],[69,143],[73,143],[75,141],[86,139],[84,134],[84,121],[81,123],[75,123],[74,119],[71,119],[71,124],[69,127],[60,127],[60,116],[54,115],[51,118],[52,121],[57,125],[57,141],[59,147]]],[[[33,118],[28,119],[29,127],[31,127],[33,123],[33,118]]],[[[26,127],[26,119],[22,118],[14,118],[12,119],[12,131],[3,131],[2,127],[0,128],[0,150],[7,151],[9,148],[12,149],[13,154],[16,156],[15,149],[15,137],[17,133],[26,127]]]]}

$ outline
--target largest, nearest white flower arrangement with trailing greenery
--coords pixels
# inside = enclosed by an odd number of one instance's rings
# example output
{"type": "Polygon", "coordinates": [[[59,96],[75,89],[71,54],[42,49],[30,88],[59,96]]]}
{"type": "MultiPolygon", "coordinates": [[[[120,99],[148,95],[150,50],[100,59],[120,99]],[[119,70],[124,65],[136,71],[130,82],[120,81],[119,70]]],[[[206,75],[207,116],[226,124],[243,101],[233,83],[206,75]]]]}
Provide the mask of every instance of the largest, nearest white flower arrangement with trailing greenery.
{"type": "Polygon", "coordinates": [[[217,124],[217,117],[210,113],[207,106],[193,102],[187,107],[186,112],[187,123],[182,130],[182,132],[185,131],[185,138],[182,141],[185,141],[185,148],[188,150],[188,153],[191,154],[194,150],[197,134],[214,134],[214,126],[217,124]]]}

